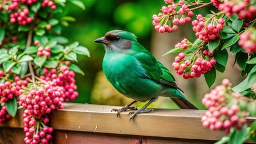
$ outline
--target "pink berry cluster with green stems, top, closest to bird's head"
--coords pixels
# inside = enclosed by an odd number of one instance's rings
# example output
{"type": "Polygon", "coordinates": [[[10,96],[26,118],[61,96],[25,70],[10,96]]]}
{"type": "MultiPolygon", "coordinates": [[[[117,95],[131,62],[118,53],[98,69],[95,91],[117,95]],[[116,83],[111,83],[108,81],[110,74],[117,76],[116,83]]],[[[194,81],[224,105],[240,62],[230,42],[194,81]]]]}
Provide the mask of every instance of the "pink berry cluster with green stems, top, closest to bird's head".
{"type": "Polygon", "coordinates": [[[174,4],[173,1],[165,1],[165,3],[171,3],[172,5],[168,5],[167,7],[163,6],[161,8],[162,13],[153,15],[153,25],[157,31],[161,33],[177,31],[178,24],[184,25],[184,23],[190,22],[190,17],[194,14],[192,11],[188,11],[188,6],[184,4],[184,1],[179,1],[178,4],[174,4]],[[175,11],[178,6],[180,9],[175,11]]]}

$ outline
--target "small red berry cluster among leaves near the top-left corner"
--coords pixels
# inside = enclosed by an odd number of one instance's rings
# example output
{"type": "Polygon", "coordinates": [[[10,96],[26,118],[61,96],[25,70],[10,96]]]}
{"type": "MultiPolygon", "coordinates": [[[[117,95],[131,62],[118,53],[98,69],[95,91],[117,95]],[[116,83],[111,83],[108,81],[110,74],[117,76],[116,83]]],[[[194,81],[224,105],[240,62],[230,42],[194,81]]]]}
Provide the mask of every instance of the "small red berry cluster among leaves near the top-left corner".
{"type": "Polygon", "coordinates": [[[10,14],[10,22],[11,23],[18,22],[19,25],[26,25],[27,23],[31,23],[32,18],[27,16],[28,13],[29,13],[28,9],[24,9],[20,13],[16,11],[15,13],[10,14]]]}

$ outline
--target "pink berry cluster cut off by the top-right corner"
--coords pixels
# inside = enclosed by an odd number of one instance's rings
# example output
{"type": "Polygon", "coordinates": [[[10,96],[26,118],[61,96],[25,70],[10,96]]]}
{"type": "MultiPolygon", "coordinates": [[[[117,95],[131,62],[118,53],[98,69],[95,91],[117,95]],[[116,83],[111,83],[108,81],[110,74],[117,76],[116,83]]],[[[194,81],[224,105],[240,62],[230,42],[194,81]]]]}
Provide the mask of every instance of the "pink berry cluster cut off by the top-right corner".
{"type": "Polygon", "coordinates": [[[251,4],[251,1],[240,0],[240,1],[224,1],[217,7],[219,10],[225,11],[228,17],[231,17],[234,13],[242,19],[255,19],[256,17],[256,6],[251,4]]]}

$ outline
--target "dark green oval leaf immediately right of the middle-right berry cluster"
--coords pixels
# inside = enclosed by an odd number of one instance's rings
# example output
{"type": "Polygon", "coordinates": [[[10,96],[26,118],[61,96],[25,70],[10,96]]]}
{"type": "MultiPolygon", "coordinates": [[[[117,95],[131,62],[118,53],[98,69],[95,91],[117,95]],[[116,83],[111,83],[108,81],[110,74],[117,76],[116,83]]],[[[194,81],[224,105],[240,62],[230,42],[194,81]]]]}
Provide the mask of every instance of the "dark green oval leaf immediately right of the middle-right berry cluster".
{"type": "Polygon", "coordinates": [[[226,49],[223,49],[223,50],[216,49],[213,56],[219,64],[226,67],[227,61],[228,61],[228,52],[226,49]]]}

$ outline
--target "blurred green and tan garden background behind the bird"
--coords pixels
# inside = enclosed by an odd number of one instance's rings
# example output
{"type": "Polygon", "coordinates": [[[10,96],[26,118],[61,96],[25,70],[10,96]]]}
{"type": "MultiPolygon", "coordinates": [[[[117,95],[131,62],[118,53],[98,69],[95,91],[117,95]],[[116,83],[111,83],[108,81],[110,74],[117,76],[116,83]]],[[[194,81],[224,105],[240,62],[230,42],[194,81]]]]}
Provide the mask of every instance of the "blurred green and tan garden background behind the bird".
{"type": "MultiPolygon", "coordinates": [[[[171,34],[160,34],[155,31],[152,25],[152,15],[158,14],[160,12],[159,9],[165,5],[162,0],[84,0],[82,2],[84,2],[86,10],[68,4],[69,15],[75,17],[76,22],[70,23],[70,26],[62,31],[62,35],[69,38],[70,42],[79,41],[91,53],[90,58],[84,56],[78,58],[78,65],[85,72],[85,76],[76,74],[79,97],[73,102],[124,106],[129,101],[132,101],[119,94],[108,83],[102,73],[104,47],[102,44],[93,43],[93,40],[103,37],[108,31],[122,29],[135,34],[139,43],[150,50],[174,74],[177,85],[185,92],[184,95],[197,107],[204,109],[201,99],[206,92],[210,91],[204,76],[199,79],[184,80],[182,76],[175,74],[175,71],[171,68],[174,57],[178,54],[162,56],[168,50],[173,49],[174,45],[185,37],[191,41],[196,39],[190,23],[178,26],[179,30],[171,34]]],[[[209,10],[214,10],[214,7],[204,8],[200,13],[205,16],[209,10]]],[[[196,14],[197,12],[194,13],[194,17],[196,14]]],[[[233,68],[231,67],[233,59],[234,56],[230,55],[229,66],[224,74],[217,74],[215,85],[221,83],[224,77],[228,77],[234,85],[240,82],[240,68],[237,65],[234,65],[233,68]]],[[[137,106],[143,106],[143,103],[137,106]]],[[[151,107],[176,108],[169,98],[159,98],[151,107]]]]}

